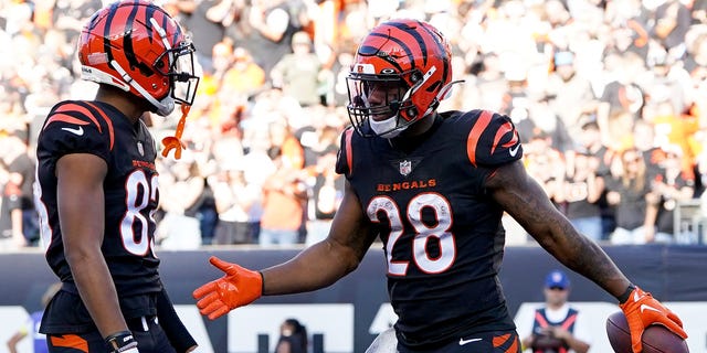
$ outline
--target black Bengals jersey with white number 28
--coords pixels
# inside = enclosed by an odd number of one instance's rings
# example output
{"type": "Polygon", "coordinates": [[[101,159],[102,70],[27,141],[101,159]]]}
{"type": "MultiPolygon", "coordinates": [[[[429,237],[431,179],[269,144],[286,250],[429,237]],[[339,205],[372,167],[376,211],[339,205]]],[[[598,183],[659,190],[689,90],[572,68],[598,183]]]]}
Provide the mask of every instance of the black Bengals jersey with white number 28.
{"type": "Polygon", "coordinates": [[[400,342],[434,347],[515,329],[497,277],[503,210],[484,188],[496,168],[523,156],[513,122],[485,110],[447,111],[412,147],[398,143],[348,129],[337,172],[383,243],[400,342]]]}

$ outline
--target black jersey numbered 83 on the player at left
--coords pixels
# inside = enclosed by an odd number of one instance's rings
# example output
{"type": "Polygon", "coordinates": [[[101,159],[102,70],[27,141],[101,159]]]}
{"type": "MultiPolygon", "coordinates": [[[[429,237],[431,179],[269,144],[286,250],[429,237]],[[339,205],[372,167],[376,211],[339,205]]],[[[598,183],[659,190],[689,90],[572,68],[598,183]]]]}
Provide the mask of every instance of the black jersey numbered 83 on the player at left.
{"type": "MultiPolygon", "coordinates": [[[[154,314],[151,308],[145,308],[145,300],[136,300],[140,295],[161,290],[159,259],[152,250],[154,213],[159,202],[155,168],[157,152],[152,137],[141,120],[131,124],[105,103],[63,101],[50,111],[36,147],[35,199],[46,261],[65,284],[65,289],[72,288],[73,278],[64,256],[59,224],[55,168],[60,158],[71,153],[92,153],[107,163],[108,172],[103,183],[105,229],[101,249],[124,314],[127,318],[154,314]]],[[[62,310],[55,308],[59,303],[52,304],[52,310],[62,310]]],[[[80,300],[76,304],[81,306],[77,311],[85,310],[80,300]]],[[[53,315],[50,325],[61,325],[62,318],[53,315]]],[[[80,319],[66,314],[66,320],[80,319]]],[[[64,322],[65,328],[75,327],[73,324],[77,322],[64,322]]]]}

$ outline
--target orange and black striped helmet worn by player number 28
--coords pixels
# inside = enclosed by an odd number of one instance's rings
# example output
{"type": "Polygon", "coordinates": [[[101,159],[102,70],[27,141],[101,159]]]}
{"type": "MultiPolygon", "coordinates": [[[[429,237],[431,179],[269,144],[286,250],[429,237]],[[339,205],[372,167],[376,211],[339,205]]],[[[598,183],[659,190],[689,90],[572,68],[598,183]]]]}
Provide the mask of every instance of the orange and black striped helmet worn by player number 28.
{"type": "Polygon", "coordinates": [[[347,77],[348,111],[356,130],[394,137],[431,115],[452,85],[451,56],[444,35],[428,22],[395,19],[377,25],[359,45],[347,77]],[[400,87],[398,94],[371,98],[377,89],[394,86],[400,87]],[[372,126],[380,116],[389,120],[383,131],[380,124],[372,126]]]}

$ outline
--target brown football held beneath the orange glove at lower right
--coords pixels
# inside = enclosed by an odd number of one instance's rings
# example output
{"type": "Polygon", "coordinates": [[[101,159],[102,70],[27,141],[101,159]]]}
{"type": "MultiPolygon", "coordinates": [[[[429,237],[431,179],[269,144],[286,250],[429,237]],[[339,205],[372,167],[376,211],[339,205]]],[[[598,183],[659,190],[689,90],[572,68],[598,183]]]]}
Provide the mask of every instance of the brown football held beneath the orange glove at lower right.
{"type": "MultiPolygon", "coordinates": [[[[606,334],[616,353],[632,353],[631,331],[623,312],[612,313],[606,319],[606,334]]],[[[687,353],[687,343],[663,325],[651,325],[643,331],[643,353],[687,353]]]]}

